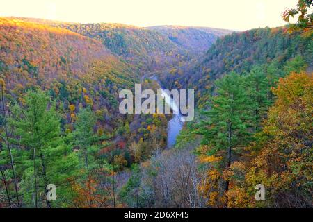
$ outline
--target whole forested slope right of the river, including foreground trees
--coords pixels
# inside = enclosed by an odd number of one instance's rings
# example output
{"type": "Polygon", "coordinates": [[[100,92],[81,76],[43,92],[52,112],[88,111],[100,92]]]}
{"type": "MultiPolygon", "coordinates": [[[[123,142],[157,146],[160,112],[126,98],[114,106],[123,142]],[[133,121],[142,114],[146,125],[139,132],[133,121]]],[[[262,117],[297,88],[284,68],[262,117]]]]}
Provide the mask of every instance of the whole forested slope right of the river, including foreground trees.
{"type": "Polygon", "coordinates": [[[176,149],[141,169],[141,186],[159,181],[149,184],[155,205],[312,207],[313,35],[303,13],[299,24],[221,37],[198,65],[163,74],[168,87],[195,89],[198,110],[176,149]]]}

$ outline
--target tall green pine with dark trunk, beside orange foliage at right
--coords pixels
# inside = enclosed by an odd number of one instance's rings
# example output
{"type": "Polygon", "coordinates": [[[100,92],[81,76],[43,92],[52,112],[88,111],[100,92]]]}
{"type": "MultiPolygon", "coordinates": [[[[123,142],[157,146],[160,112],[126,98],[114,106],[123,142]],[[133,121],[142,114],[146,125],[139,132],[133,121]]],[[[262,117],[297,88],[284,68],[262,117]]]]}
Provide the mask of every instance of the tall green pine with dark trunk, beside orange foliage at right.
{"type": "MultiPolygon", "coordinates": [[[[212,99],[211,109],[204,112],[207,120],[200,123],[198,133],[203,135],[202,144],[209,146],[207,155],[226,151],[222,169],[228,169],[234,148],[240,148],[250,140],[251,102],[239,74],[228,74],[216,81],[216,86],[218,96],[212,99]]],[[[229,181],[226,180],[224,190],[228,189],[229,181]]]]}

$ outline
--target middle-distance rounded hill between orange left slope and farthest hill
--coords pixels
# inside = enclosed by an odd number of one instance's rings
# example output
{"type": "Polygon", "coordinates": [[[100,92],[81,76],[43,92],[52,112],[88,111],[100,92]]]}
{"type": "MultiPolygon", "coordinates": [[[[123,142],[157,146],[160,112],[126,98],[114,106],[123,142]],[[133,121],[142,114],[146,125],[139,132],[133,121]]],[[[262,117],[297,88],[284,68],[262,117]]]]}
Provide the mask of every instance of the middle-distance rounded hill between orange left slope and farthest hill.
{"type": "Polygon", "coordinates": [[[122,24],[62,24],[61,27],[99,40],[141,71],[164,69],[190,59],[184,48],[146,28],[122,24]]]}

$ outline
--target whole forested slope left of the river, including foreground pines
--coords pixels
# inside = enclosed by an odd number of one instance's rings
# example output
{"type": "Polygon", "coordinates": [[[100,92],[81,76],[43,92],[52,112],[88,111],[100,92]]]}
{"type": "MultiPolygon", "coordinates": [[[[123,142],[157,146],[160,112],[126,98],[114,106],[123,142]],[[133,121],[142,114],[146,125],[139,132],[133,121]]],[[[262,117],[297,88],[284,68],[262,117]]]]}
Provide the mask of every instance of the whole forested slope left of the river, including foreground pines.
{"type": "Polygon", "coordinates": [[[138,69],[97,40],[45,24],[0,18],[0,40],[0,205],[116,206],[128,177],[117,174],[166,147],[164,115],[118,110],[138,69]],[[62,196],[53,203],[44,198],[52,181],[62,196]],[[90,193],[100,185],[105,194],[90,193]]]}

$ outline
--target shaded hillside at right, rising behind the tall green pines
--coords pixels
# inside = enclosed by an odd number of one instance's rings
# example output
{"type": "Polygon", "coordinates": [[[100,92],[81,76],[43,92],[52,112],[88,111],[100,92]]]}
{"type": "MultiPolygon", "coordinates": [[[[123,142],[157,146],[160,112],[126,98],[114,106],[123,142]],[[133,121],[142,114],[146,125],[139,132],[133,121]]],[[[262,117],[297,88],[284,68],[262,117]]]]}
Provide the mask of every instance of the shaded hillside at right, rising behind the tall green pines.
{"type": "Polygon", "coordinates": [[[287,28],[257,28],[218,38],[198,62],[172,69],[161,80],[167,87],[197,89],[199,99],[213,92],[214,80],[230,71],[243,73],[260,65],[264,70],[275,67],[278,76],[284,76],[284,65],[294,58],[313,67],[312,51],[312,32],[299,35],[287,33],[287,28]]]}

